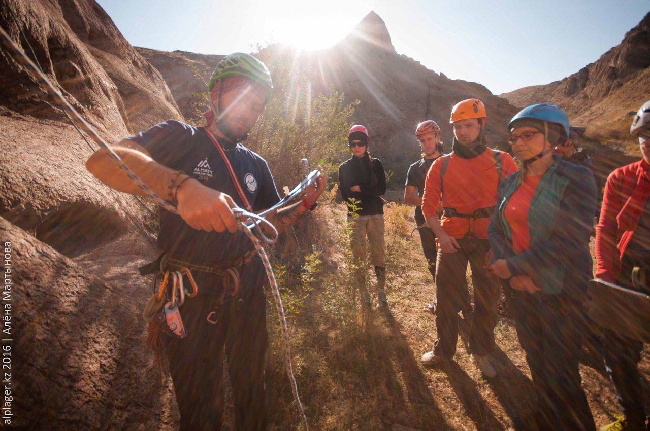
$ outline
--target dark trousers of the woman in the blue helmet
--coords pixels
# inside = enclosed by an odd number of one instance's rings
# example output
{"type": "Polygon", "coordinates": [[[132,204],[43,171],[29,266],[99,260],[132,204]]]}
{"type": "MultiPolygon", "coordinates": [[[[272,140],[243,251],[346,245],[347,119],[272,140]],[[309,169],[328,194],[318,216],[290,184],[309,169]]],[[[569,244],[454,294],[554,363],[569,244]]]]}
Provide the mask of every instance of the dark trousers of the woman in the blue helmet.
{"type": "Polygon", "coordinates": [[[564,295],[530,295],[504,286],[526,352],[543,429],[595,430],[578,370],[584,310],[564,295]]]}

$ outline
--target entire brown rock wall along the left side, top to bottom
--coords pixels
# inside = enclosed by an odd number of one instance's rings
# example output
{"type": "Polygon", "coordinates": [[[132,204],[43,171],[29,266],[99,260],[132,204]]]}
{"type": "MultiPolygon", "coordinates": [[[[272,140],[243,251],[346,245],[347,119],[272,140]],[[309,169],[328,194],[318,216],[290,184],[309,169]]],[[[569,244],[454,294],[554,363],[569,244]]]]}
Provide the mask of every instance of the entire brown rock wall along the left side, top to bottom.
{"type": "MultiPolygon", "coordinates": [[[[157,69],[91,0],[0,3],[0,25],[108,142],[181,118],[157,69]],[[15,14],[16,20],[12,18],[15,14]]],[[[174,396],[139,317],[155,222],[85,169],[92,150],[44,88],[0,51],[0,240],[11,243],[12,425],[173,429],[174,396]],[[128,254],[125,254],[128,250],[128,254]]],[[[92,143],[94,149],[97,145],[92,143]]],[[[149,209],[153,208],[148,203],[149,209]]],[[[5,270],[6,271],[6,270],[5,270]]]]}

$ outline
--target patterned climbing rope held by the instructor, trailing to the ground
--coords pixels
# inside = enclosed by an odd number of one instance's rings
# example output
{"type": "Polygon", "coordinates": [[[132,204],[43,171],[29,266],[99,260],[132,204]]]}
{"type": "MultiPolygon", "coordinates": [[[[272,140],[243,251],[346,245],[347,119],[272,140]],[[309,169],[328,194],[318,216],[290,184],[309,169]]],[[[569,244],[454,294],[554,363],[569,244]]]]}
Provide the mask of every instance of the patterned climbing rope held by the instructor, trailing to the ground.
{"type": "MultiPolygon", "coordinates": [[[[23,52],[22,49],[16,45],[16,43],[9,37],[9,35],[6,33],[5,29],[0,27],[0,35],[2,36],[1,42],[5,47],[12,53],[16,54],[16,57],[14,58],[15,60],[21,62],[23,66],[27,68],[27,70],[32,74],[32,76],[37,79],[41,84],[45,86],[47,91],[54,96],[55,101],[61,106],[61,108],[70,114],[72,116],[73,123],[77,125],[80,129],[84,130],[88,136],[94,142],[98,143],[100,147],[103,147],[104,149],[107,150],[107,152],[110,154],[112,157],[113,161],[115,164],[120,167],[123,171],[125,171],[127,177],[131,179],[135,184],[137,184],[138,188],[140,190],[144,190],[149,197],[153,198],[153,200],[162,206],[165,210],[172,212],[174,214],[178,214],[175,206],[172,204],[168,203],[164,199],[162,199],[159,195],[157,195],[153,190],[151,190],[142,180],[140,180],[135,173],[129,169],[129,167],[122,161],[120,156],[116,154],[110,147],[105,143],[95,132],[95,130],[92,128],[90,124],[88,124],[83,117],[64,99],[63,95],[57,90],[57,88],[45,77],[44,73],[40,71],[39,68],[36,67],[34,62],[23,52]]],[[[282,306],[282,300],[280,299],[279,291],[278,291],[278,284],[276,283],[276,278],[273,275],[273,270],[271,268],[271,264],[268,261],[268,256],[266,256],[266,252],[264,248],[262,247],[261,243],[257,239],[257,237],[253,234],[252,228],[253,227],[259,227],[260,223],[265,223],[270,230],[272,230],[272,238],[267,238],[266,236],[263,236],[265,241],[272,243],[275,242],[278,238],[278,230],[269,222],[267,221],[263,216],[268,214],[269,212],[278,209],[280,206],[283,206],[287,204],[291,199],[296,197],[298,194],[300,194],[302,191],[306,190],[307,186],[316,180],[320,176],[320,172],[318,171],[312,171],[309,173],[307,178],[302,180],[294,190],[285,197],[285,199],[282,199],[278,204],[270,208],[269,210],[266,210],[262,214],[252,214],[250,212],[244,211],[240,208],[233,208],[233,214],[235,214],[235,217],[239,220],[239,229],[242,230],[246,236],[253,242],[253,245],[255,246],[255,251],[257,251],[257,254],[259,254],[263,264],[264,268],[266,270],[266,276],[268,277],[268,281],[270,283],[271,289],[273,291],[273,299],[276,304],[276,310],[278,311],[278,317],[280,320],[280,326],[282,329],[282,338],[284,341],[283,349],[285,353],[285,365],[287,369],[287,376],[289,376],[289,382],[291,383],[291,391],[293,393],[294,400],[296,401],[296,404],[298,405],[298,410],[300,411],[300,415],[302,415],[302,421],[305,425],[305,429],[309,429],[309,426],[307,425],[307,417],[305,416],[305,411],[304,408],[302,407],[302,403],[300,402],[300,397],[298,396],[298,387],[296,386],[296,379],[294,378],[293,375],[293,368],[291,365],[291,347],[289,346],[289,331],[287,330],[287,320],[285,319],[285,314],[284,314],[284,308],[282,306]],[[249,223],[249,225],[246,225],[246,223],[249,223]]],[[[259,229],[259,232],[261,232],[261,229],[259,229]]]]}

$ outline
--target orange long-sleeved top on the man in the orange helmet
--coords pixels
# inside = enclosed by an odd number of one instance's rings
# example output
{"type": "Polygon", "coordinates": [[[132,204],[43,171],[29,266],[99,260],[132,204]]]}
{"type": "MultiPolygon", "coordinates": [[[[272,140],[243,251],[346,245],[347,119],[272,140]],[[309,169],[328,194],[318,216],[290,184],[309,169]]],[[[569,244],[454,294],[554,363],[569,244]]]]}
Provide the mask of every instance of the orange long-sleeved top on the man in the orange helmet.
{"type": "MultiPolygon", "coordinates": [[[[518,171],[517,164],[510,154],[501,153],[501,179],[518,171]]],[[[497,169],[491,149],[486,149],[474,158],[462,158],[452,153],[445,171],[444,190],[440,190],[440,169],[443,157],[435,160],[424,183],[422,195],[422,212],[428,220],[435,216],[435,207],[442,195],[443,207],[454,208],[460,214],[473,214],[480,208],[497,204],[497,169]]],[[[467,232],[474,232],[478,238],[487,240],[489,217],[465,219],[446,217],[440,219],[440,225],[447,235],[457,240],[467,232]]]]}

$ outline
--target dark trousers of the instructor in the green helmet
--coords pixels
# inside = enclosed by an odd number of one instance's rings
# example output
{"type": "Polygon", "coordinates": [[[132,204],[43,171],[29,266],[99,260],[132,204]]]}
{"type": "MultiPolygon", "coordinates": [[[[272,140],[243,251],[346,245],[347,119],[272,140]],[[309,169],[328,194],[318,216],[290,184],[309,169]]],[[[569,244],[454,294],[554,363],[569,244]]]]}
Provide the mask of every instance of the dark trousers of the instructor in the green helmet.
{"type": "Polygon", "coordinates": [[[218,430],[224,411],[224,353],[233,388],[235,428],[264,430],[266,298],[261,287],[226,301],[213,315],[218,297],[186,298],[179,309],[187,337],[168,339],[169,362],[181,430],[218,430]],[[225,346],[225,349],[224,349],[225,346]]]}

